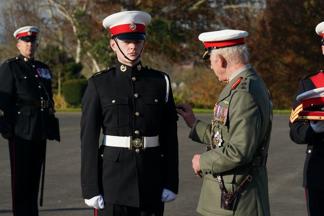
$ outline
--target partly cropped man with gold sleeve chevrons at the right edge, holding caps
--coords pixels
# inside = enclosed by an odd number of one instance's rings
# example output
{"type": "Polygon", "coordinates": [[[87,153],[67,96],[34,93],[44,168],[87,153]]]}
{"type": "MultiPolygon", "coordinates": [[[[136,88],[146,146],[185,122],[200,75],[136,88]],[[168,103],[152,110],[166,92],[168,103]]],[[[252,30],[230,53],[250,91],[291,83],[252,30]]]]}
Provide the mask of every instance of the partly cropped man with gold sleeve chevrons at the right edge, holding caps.
{"type": "MultiPolygon", "coordinates": [[[[315,31],[320,36],[324,36],[324,22],[316,26],[315,31]]],[[[323,39],[322,39],[323,42],[323,39]]],[[[324,55],[324,45],[322,44],[324,55]]],[[[294,105],[290,117],[290,138],[297,144],[306,144],[306,160],[304,164],[303,187],[305,188],[306,204],[308,215],[321,215],[322,203],[324,202],[324,121],[298,119],[300,112],[308,109],[309,111],[321,111],[324,104],[313,106],[312,108],[303,107],[302,101],[297,97],[308,92],[314,94],[318,88],[324,87],[324,71],[310,74],[299,82],[299,87],[294,99],[294,105]]],[[[306,94],[308,94],[306,93],[306,94]]]]}

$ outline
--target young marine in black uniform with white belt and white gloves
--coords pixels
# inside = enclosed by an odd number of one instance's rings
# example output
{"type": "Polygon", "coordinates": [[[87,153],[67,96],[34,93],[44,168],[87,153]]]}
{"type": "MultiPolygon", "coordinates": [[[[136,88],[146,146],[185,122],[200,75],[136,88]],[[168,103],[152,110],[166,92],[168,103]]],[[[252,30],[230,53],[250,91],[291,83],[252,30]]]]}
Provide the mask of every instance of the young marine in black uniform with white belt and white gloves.
{"type": "Polygon", "coordinates": [[[89,79],[80,122],[82,193],[95,215],[163,215],[164,202],[178,193],[170,78],[140,61],[150,20],[147,13],[126,11],[103,21],[118,61],[89,79]]]}

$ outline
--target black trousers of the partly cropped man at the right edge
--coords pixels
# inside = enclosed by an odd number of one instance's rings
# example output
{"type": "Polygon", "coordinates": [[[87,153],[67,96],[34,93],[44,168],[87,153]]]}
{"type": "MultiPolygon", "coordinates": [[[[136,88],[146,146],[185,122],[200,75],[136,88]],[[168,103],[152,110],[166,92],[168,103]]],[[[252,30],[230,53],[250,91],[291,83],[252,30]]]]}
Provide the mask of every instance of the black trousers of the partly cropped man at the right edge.
{"type": "Polygon", "coordinates": [[[323,215],[324,191],[305,188],[308,216],[323,215]]]}

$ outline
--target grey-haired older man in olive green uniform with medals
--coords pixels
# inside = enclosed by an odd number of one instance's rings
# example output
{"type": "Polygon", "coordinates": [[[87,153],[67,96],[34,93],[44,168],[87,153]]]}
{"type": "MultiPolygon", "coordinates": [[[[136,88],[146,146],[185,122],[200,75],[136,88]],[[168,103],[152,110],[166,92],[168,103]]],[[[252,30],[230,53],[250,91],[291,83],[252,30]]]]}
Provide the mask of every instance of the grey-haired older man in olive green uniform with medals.
{"type": "Polygon", "coordinates": [[[211,68],[228,83],[215,104],[211,123],[177,104],[191,127],[189,138],[210,144],[192,159],[195,174],[205,175],[197,211],[203,215],[270,215],[267,150],[272,105],[261,77],[248,63],[246,31],[221,30],[199,35],[211,68]]]}

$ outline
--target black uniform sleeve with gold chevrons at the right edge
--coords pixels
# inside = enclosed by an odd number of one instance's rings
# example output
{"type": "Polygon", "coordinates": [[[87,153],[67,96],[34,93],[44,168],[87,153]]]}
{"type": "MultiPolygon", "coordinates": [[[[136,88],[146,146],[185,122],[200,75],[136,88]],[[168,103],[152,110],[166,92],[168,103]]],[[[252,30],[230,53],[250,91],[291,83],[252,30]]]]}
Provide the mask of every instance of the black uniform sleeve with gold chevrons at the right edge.
{"type": "Polygon", "coordinates": [[[298,119],[298,113],[302,110],[302,104],[296,98],[298,95],[309,90],[308,81],[310,80],[300,80],[299,82],[289,121],[290,138],[297,144],[319,144],[324,141],[324,133],[315,134],[308,122],[302,122],[298,119]]]}

